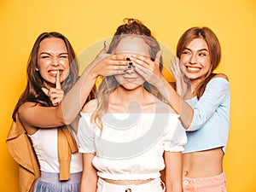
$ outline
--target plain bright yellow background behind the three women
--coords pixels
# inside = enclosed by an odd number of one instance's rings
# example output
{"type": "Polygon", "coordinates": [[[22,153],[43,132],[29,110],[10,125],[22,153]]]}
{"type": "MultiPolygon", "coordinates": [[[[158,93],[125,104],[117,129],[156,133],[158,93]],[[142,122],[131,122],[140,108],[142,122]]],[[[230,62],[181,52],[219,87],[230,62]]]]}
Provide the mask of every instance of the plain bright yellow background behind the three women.
{"type": "Polygon", "coordinates": [[[209,26],[223,49],[218,72],[231,84],[231,127],[224,169],[230,192],[256,191],[256,2],[255,0],[0,1],[0,191],[18,191],[18,172],[5,138],[11,114],[26,84],[26,61],[41,32],[65,34],[79,54],[113,35],[134,17],[173,51],[191,26],[209,26]]]}

